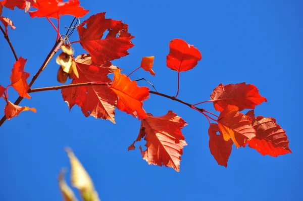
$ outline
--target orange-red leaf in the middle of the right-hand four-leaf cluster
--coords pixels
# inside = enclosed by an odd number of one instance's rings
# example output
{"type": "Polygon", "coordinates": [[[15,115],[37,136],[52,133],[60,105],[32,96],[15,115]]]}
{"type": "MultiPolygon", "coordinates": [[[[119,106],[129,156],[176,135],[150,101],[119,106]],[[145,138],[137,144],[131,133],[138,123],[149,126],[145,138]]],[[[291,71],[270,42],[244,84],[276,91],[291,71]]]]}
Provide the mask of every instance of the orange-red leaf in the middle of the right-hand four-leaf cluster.
{"type": "Polygon", "coordinates": [[[238,107],[228,105],[218,118],[224,140],[231,138],[236,147],[243,146],[246,141],[256,136],[256,130],[251,126],[251,118],[238,111],[238,107]]]}

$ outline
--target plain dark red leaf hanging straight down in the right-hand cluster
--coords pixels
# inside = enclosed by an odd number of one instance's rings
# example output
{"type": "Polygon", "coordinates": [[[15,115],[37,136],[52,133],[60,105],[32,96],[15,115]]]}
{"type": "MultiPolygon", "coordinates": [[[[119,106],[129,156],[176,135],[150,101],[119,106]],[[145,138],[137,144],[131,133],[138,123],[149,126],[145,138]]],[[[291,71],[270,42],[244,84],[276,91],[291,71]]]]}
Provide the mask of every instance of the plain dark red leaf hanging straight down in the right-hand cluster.
{"type": "Polygon", "coordinates": [[[232,140],[224,140],[223,135],[217,135],[220,132],[218,124],[211,124],[208,130],[210,141],[209,146],[211,154],[216,159],[217,163],[227,168],[227,161],[231,154],[232,140]]]}

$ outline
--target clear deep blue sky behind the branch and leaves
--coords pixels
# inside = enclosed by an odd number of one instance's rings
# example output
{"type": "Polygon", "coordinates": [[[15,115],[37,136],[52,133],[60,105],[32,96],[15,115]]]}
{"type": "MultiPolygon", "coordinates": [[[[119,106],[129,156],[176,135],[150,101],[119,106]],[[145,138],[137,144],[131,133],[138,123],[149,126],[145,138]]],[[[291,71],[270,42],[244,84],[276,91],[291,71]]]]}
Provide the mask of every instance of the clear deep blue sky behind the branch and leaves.
{"type": "MultiPolygon", "coordinates": [[[[207,119],[187,106],[150,94],[144,102],[146,112],[162,116],[173,110],[189,124],[182,130],[188,146],[178,173],[148,165],[139,149],[127,152],[140,128],[132,116],[117,111],[117,124],[85,118],[77,106],[69,112],[60,91],[32,93],[32,99],[25,98],[21,105],[34,107],[37,113],[23,112],[0,127],[0,200],[62,200],[57,176],[62,167],[70,168],[65,146],[82,162],[102,200],[303,199],[302,1],[90,0],[81,1],[81,6],[90,10],[82,21],[107,12],[107,18],[129,25],[135,46],[129,56],[113,63],[128,74],[140,65],[141,57],[155,56],[156,76],[139,70],[131,79],[144,77],[159,92],[176,93],[177,73],[166,67],[173,38],[193,44],[203,57],[194,69],[181,73],[180,99],[192,104],[209,100],[220,83],[256,85],[268,99],[257,106],[256,115],[277,120],[286,130],[292,154],[264,157],[255,149],[233,145],[228,167],[219,166],[208,147],[207,119]]],[[[18,9],[4,9],[3,16],[17,27],[9,35],[18,57],[28,59],[25,70],[32,76],[54,45],[56,32],[46,19],[31,19],[18,9]]],[[[63,34],[72,19],[62,18],[63,34]]],[[[75,32],[71,41],[77,38],[75,32]]],[[[79,44],[74,47],[76,55],[85,53],[79,44]]],[[[7,86],[15,60],[3,37],[0,58],[0,84],[7,86]]],[[[58,68],[52,60],[33,88],[60,85],[58,68]]],[[[12,102],[18,97],[12,88],[9,95],[12,102]]],[[[5,107],[3,99],[0,107],[5,107]]],[[[212,103],[201,107],[215,111],[212,103]]]]}

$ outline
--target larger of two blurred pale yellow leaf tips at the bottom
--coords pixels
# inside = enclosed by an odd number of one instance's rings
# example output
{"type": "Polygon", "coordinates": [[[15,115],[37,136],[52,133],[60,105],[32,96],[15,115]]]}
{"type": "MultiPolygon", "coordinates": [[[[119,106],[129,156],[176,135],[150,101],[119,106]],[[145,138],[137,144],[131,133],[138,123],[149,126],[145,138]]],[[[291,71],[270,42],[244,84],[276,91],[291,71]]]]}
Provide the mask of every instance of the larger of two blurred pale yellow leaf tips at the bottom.
{"type": "Polygon", "coordinates": [[[71,163],[71,183],[78,188],[84,201],[99,201],[91,178],[70,148],[66,152],[71,163]]]}

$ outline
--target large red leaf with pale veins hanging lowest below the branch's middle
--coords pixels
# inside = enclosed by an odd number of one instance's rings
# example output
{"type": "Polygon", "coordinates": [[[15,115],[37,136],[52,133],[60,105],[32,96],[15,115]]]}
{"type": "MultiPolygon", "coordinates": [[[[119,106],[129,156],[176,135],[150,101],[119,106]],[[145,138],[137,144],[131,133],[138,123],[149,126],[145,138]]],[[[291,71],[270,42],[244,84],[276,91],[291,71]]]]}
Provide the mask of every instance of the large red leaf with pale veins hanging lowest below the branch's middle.
{"type": "Polygon", "coordinates": [[[128,150],[134,149],[134,143],[145,137],[146,150],[142,151],[141,146],[139,147],[143,159],[149,165],[164,165],[179,172],[183,147],[187,145],[181,129],[188,124],[172,111],[161,117],[147,115],[148,118],[141,121],[137,139],[128,150]]]}

